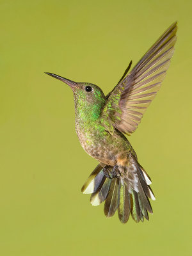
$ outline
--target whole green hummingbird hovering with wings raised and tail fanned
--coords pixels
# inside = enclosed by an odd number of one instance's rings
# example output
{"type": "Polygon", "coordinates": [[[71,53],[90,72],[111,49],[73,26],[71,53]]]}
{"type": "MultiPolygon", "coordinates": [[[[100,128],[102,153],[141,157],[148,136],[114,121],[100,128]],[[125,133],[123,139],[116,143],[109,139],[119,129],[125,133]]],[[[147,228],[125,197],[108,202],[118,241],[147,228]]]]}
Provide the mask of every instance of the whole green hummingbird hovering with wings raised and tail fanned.
{"type": "Polygon", "coordinates": [[[104,202],[110,218],[118,211],[122,223],[137,223],[152,214],[155,200],[151,179],[138,161],[127,135],[136,131],[156,97],[170,65],[176,42],[174,22],[129,72],[132,61],[115,88],[104,95],[99,86],[74,82],[48,73],[68,84],[74,94],[76,133],[83,149],[99,161],[81,189],[92,205],[104,202]]]}

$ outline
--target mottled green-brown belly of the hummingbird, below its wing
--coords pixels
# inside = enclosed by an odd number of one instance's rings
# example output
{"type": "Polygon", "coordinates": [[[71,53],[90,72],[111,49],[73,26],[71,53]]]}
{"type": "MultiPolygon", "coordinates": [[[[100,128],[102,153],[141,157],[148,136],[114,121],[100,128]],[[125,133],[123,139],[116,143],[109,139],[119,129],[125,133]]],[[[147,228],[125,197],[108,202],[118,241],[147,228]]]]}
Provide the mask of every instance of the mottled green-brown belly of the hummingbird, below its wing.
{"type": "Polygon", "coordinates": [[[122,134],[112,136],[106,131],[84,132],[76,127],[77,136],[83,149],[100,163],[114,166],[127,164],[128,153],[134,150],[122,134]]]}

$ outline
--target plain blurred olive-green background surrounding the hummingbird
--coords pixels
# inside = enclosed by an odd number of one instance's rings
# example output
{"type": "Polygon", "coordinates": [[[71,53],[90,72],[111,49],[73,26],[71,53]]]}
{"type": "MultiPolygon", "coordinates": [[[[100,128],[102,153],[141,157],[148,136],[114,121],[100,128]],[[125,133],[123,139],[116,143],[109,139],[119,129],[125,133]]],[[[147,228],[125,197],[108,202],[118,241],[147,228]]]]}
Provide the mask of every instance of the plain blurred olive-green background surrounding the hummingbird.
{"type": "Polygon", "coordinates": [[[191,255],[191,3],[0,1],[0,254],[191,255]],[[74,129],[70,88],[104,93],[175,20],[163,86],[129,140],[152,178],[150,221],[107,219],[81,186],[97,164],[74,129]]]}

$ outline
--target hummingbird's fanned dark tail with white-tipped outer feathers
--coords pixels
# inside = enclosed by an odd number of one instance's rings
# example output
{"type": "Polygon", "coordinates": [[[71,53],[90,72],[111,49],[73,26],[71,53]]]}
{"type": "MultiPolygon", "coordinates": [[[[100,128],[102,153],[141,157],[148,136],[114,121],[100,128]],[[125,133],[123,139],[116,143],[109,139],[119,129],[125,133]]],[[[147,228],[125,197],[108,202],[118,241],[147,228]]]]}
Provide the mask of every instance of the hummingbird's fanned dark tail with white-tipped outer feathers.
{"type": "MultiPolygon", "coordinates": [[[[113,166],[110,167],[112,171],[113,166]]],[[[81,191],[92,194],[90,202],[99,205],[105,201],[104,214],[109,218],[118,209],[118,218],[122,223],[129,220],[131,214],[134,221],[148,220],[148,212],[152,207],[148,198],[155,200],[150,188],[151,180],[138,161],[129,154],[129,164],[118,167],[120,177],[110,179],[104,174],[103,167],[98,164],[84,183],[81,191]]]]}

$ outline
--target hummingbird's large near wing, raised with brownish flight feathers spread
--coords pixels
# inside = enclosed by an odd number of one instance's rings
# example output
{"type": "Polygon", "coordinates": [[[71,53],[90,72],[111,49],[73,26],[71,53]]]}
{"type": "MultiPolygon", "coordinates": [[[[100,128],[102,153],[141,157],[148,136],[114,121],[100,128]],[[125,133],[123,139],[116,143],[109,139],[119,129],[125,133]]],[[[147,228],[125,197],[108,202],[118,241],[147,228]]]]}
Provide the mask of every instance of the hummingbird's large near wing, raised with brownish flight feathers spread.
{"type": "MultiPolygon", "coordinates": [[[[156,96],[170,65],[176,42],[177,22],[152,45],[131,72],[106,96],[102,117],[125,134],[131,134],[156,96]]],[[[106,127],[107,129],[107,127],[106,127]]]]}

